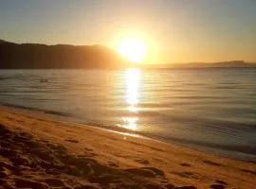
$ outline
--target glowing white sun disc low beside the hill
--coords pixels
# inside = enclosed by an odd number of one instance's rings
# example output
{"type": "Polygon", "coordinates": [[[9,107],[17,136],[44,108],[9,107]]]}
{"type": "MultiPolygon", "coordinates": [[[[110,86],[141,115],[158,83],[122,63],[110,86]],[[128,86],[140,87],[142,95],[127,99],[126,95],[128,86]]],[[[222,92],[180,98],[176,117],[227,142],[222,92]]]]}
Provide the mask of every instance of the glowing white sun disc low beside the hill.
{"type": "Polygon", "coordinates": [[[128,37],[119,43],[118,52],[126,59],[140,63],[147,54],[147,45],[137,37],[128,37]]]}

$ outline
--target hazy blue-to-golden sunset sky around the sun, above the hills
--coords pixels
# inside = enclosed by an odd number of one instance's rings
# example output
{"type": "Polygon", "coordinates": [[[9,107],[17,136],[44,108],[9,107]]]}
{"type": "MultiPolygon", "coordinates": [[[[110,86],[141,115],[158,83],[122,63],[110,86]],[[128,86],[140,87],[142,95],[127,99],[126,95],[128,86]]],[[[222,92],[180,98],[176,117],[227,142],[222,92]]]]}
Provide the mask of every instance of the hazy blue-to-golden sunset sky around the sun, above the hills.
{"type": "Polygon", "coordinates": [[[133,35],[147,63],[256,61],[255,0],[0,0],[0,39],[102,44],[133,35]]]}

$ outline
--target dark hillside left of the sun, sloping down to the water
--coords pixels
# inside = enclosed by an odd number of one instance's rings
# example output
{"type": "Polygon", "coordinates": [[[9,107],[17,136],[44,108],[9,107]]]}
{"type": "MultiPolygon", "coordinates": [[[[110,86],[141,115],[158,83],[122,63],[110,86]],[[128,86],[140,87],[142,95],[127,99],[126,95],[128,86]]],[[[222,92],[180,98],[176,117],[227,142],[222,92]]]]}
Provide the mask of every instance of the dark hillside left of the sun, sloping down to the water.
{"type": "Polygon", "coordinates": [[[0,69],[121,68],[134,66],[101,45],[46,45],[0,40],[0,69]]]}

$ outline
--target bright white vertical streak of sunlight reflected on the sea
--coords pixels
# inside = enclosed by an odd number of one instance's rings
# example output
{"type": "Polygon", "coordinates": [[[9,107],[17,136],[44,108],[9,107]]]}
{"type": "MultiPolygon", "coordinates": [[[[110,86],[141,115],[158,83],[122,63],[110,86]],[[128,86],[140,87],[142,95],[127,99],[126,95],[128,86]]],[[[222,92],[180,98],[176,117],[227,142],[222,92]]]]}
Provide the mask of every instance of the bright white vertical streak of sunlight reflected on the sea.
{"type": "Polygon", "coordinates": [[[125,71],[126,83],[126,110],[131,116],[122,117],[121,127],[126,129],[137,130],[137,112],[139,111],[137,104],[139,102],[139,80],[140,70],[137,68],[127,69],[125,71]]]}

